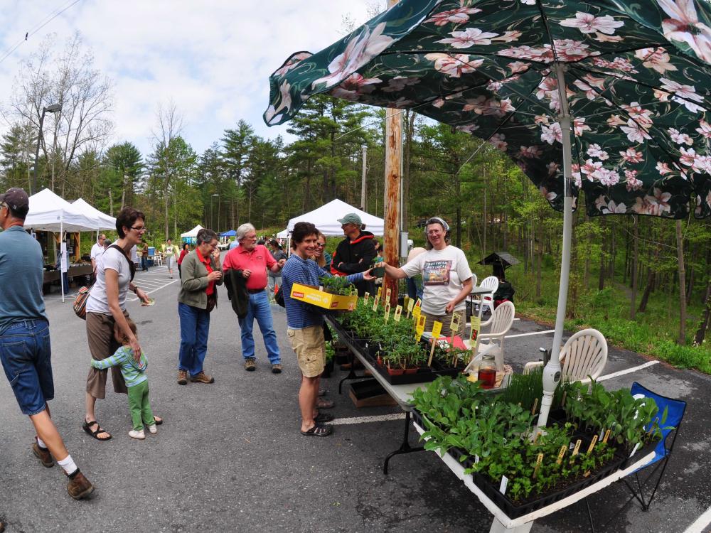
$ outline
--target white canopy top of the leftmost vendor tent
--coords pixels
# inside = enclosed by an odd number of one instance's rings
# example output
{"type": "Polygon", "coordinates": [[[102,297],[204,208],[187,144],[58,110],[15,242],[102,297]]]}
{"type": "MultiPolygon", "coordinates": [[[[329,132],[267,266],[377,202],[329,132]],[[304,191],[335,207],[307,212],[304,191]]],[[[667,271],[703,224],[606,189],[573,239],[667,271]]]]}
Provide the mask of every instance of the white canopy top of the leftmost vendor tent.
{"type": "Polygon", "coordinates": [[[86,232],[100,229],[100,222],[49,189],[43,189],[29,198],[30,210],[24,227],[47,232],[86,232]]]}

